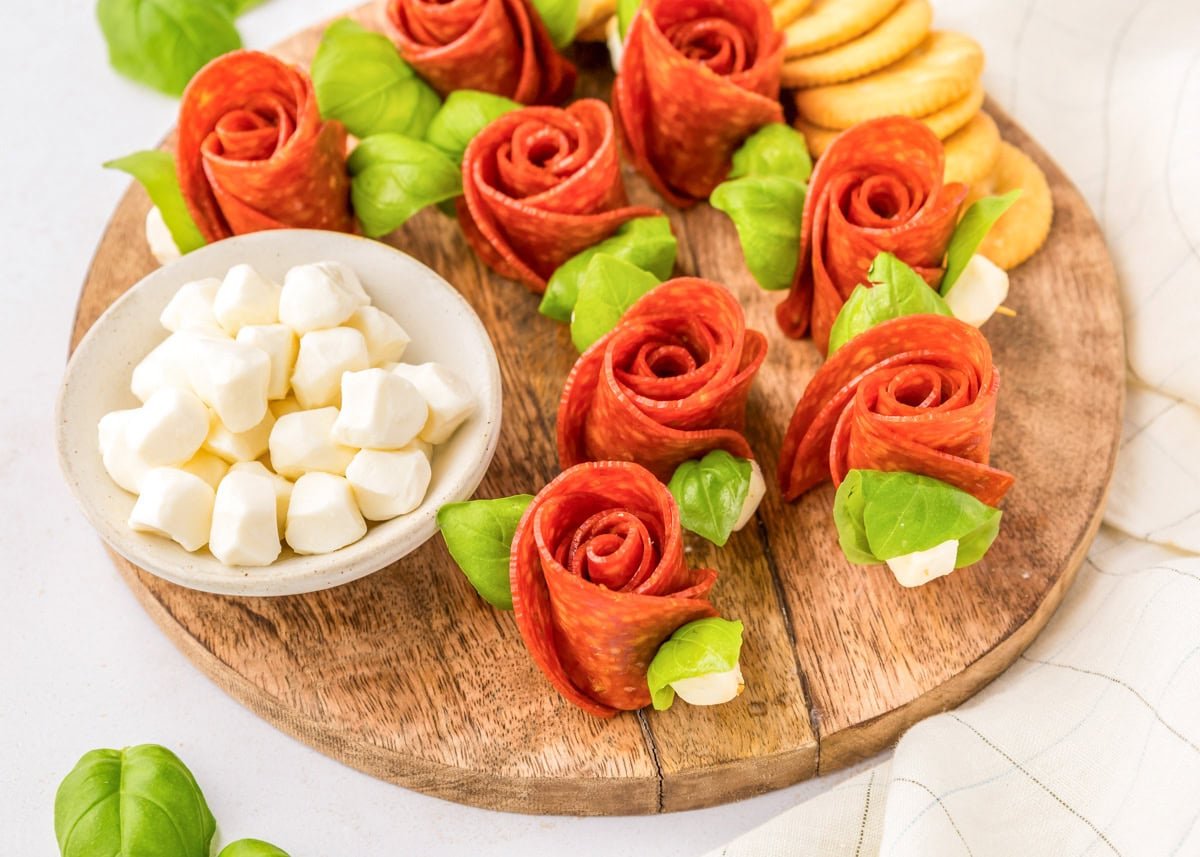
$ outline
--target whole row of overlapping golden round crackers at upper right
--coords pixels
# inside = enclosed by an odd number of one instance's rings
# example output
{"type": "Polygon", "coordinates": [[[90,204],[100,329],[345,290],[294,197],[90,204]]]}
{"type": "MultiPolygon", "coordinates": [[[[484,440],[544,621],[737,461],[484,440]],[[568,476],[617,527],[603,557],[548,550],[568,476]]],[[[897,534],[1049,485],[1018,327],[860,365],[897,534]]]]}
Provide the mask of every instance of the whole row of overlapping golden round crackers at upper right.
{"type": "Polygon", "coordinates": [[[978,42],[931,29],[929,0],[772,0],[772,7],[787,43],[782,83],[814,155],[864,120],[918,119],[946,146],[946,180],[970,185],[971,199],[1022,191],[980,252],[1002,268],[1037,252],[1054,217],[1050,187],[983,109],[978,42]]]}

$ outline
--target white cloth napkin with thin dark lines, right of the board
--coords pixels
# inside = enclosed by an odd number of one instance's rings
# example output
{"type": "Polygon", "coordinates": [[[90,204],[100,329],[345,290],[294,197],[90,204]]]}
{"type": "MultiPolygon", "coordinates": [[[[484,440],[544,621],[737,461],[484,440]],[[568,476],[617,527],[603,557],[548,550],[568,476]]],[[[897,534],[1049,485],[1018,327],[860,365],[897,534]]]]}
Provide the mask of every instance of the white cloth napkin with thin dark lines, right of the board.
{"type": "Polygon", "coordinates": [[[1110,526],[1003,676],[714,853],[1195,857],[1200,2],[955,0],[935,26],[984,43],[989,92],[1105,229],[1132,376],[1110,526]]]}

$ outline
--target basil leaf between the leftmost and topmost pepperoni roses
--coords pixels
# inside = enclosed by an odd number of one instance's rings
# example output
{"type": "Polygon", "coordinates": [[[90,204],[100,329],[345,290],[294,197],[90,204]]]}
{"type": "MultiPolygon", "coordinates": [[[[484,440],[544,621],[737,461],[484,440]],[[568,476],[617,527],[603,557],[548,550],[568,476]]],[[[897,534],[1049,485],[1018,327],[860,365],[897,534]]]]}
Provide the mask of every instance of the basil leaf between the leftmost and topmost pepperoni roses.
{"type": "Polygon", "coordinates": [[[421,138],[442,104],[391,40],[349,18],[335,20],[322,36],[312,84],[320,115],[340,120],[355,137],[421,138]]]}

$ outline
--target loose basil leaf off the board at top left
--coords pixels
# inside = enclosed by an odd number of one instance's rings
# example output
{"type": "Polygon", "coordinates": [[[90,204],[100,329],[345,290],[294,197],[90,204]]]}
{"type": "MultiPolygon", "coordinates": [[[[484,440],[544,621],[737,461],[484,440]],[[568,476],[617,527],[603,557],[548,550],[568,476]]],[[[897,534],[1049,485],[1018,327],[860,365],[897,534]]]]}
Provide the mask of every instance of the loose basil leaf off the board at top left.
{"type": "Polygon", "coordinates": [[[179,95],[209,60],[241,47],[229,6],[205,0],[100,0],[108,61],[125,77],[179,95]]]}

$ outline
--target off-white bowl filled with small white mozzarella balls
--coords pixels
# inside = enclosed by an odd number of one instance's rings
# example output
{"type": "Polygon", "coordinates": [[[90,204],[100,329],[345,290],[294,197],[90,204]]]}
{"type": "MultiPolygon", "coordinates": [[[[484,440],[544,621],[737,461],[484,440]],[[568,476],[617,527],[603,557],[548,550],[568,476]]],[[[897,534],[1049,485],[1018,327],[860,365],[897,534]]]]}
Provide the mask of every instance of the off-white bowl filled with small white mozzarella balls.
{"type": "Polygon", "coordinates": [[[470,497],[500,373],[454,287],[378,241],[280,229],[134,284],[67,365],[58,449],[108,545],[181,586],[286,595],[378,571],[470,497]]]}

